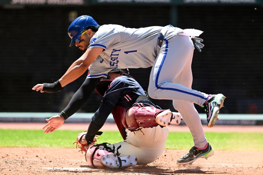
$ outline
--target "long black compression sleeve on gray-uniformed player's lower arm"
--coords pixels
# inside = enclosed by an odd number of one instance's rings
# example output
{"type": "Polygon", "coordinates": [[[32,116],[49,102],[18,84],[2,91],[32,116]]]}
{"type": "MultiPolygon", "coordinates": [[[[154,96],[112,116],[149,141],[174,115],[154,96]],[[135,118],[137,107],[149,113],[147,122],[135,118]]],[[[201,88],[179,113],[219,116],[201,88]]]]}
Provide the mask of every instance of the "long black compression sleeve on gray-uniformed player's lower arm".
{"type": "Polygon", "coordinates": [[[100,78],[89,78],[84,81],[77,92],[71,98],[68,106],[60,112],[64,119],[67,119],[77,112],[89,99],[90,94],[94,91],[100,78]]]}

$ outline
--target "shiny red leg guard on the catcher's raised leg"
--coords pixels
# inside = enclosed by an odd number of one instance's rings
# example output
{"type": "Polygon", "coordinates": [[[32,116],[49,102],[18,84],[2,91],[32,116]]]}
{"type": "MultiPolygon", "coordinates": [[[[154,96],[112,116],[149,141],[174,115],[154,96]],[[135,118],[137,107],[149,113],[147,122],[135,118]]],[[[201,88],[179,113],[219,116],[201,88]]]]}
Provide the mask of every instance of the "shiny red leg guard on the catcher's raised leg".
{"type": "Polygon", "coordinates": [[[158,125],[155,121],[155,116],[162,111],[165,110],[159,110],[151,106],[127,108],[122,113],[122,124],[131,131],[139,127],[155,127],[158,125]]]}

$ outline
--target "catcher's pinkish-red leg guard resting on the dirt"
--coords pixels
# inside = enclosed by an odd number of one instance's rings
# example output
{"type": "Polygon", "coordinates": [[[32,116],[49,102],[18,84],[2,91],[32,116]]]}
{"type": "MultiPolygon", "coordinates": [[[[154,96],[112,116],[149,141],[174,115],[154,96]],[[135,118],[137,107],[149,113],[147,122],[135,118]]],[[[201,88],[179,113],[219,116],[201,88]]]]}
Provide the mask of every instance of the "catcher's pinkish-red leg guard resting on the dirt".
{"type": "Polygon", "coordinates": [[[105,167],[100,160],[103,155],[113,154],[107,150],[102,150],[98,146],[90,145],[85,153],[86,162],[92,167],[105,167]]]}

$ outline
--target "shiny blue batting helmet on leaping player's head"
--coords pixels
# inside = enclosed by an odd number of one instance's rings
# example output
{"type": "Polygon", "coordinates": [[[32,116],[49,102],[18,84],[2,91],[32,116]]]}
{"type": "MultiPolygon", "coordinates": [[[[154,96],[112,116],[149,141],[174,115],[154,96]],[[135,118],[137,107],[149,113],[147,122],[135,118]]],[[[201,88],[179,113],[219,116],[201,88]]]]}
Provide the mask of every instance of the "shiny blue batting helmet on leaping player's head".
{"type": "Polygon", "coordinates": [[[75,44],[75,40],[89,26],[99,27],[100,25],[88,15],[79,16],[70,24],[68,27],[68,36],[71,38],[70,47],[75,44]]]}

